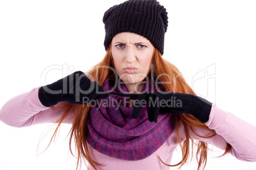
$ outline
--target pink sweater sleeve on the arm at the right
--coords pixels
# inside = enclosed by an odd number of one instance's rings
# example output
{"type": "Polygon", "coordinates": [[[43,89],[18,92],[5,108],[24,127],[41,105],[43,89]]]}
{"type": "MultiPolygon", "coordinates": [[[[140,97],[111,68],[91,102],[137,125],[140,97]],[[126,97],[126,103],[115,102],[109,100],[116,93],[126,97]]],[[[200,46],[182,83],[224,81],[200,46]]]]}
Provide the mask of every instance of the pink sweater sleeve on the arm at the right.
{"type": "MultiPolygon", "coordinates": [[[[224,149],[229,143],[232,146],[231,154],[239,160],[256,161],[256,127],[245,122],[229,112],[213,105],[210,118],[206,122],[208,128],[217,133],[213,138],[199,138],[194,133],[191,137],[224,149]]],[[[207,130],[196,129],[200,135],[206,135],[207,130]]]]}

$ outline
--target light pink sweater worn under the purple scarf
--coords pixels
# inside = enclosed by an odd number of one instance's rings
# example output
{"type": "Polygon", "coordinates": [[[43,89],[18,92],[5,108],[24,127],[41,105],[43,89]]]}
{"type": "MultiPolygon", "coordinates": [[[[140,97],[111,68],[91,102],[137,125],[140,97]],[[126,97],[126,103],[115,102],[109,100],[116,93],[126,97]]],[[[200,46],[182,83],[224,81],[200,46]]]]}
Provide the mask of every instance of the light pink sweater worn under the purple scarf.
{"type": "MultiPolygon", "coordinates": [[[[0,110],[0,121],[14,126],[25,127],[46,122],[55,122],[62,115],[63,110],[44,107],[38,99],[38,89],[34,88],[28,93],[15,96],[0,110]]],[[[59,105],[59,104],[57,104],[59,105]]],[[[72,114],[71,114],[72,115],[72,114]]],[[[71,124],[73,117],[70,116],[66,123],[71,124]]],[[[195,140],[204,141],[215,145],[218,148],[225,148],[226,141],[231,144],[231,154],[239,160],[256,161],[256,127],[239,119],[238,117],[225,112],[213,105],[210,112],[210,119],[206,122],[210,129],[214,129],[217,135],[213,138],[199,138],[194,133],[190,136],[195,140]]],[[[198,134],[208,134],[204,129],[196,128],[198,134]]],[[[180,124],[181,138],[184,139],[183,126],[180,124]]],[[[158,159],[160,158],[169,164],[175,148],[178,146],[176,134],[173,133],[169,139],[154,154],[143,160],[122,160],[101,154],[90,147],[92,159],[106,166],[97,169],[169,169],[158,159]]],[[[89,169],[92,167],[89,166],[89,169]]]]}

